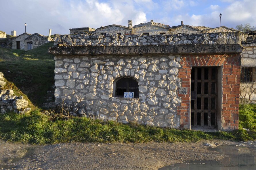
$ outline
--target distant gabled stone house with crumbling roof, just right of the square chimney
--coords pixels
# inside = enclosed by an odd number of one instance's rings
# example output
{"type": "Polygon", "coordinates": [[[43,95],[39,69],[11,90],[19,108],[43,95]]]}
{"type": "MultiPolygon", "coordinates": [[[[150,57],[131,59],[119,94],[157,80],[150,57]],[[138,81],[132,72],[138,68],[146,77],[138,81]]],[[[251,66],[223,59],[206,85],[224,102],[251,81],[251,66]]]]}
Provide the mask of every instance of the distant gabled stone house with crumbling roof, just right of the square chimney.
{"type": "Polygon", "coordinates": [[[158,34],[170,34],[169,25],[156,23],[151,20],[144,24],[138,24],[133,26],[133,34],[144,34],[144,35],[158,35],[158,34]]]}

